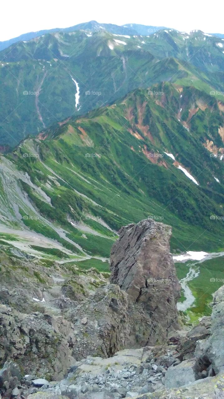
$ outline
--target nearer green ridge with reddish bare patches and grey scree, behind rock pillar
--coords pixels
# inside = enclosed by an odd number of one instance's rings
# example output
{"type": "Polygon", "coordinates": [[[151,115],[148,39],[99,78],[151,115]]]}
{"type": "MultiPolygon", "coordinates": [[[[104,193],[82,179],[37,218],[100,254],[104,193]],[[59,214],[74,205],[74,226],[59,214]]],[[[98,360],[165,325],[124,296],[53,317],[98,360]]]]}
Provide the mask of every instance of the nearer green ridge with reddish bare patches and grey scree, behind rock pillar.
{"type": "Polygon", "coordinates": [[[161,83],[25,140],[0,161],[0,244],[101,262],[122,225],[151,216],[173,226],[173,251],[222,249],[223,111],[161,83]]]}

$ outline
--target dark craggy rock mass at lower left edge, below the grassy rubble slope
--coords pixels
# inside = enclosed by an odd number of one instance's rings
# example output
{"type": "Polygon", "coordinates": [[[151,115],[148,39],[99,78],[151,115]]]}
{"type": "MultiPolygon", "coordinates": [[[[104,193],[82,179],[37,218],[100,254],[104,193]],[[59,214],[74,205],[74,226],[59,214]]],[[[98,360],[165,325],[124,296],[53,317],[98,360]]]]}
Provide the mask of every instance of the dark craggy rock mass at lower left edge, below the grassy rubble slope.
{"type": "Polygon", "coordinates": [[[0,361],[16,359],[22,369],[35,375],[62,378],[74,358],[69,341],[71,323],[53,314],[24,314],[0,305],[0,361]]]}

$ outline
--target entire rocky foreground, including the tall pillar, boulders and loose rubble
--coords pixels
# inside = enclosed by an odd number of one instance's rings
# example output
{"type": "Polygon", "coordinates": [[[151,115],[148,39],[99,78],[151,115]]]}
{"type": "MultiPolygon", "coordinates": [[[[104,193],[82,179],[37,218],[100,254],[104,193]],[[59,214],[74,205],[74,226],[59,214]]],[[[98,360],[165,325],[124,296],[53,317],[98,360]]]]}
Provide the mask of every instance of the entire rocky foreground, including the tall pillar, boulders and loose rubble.
{"type": "Polygon", "coordinates": [[[224,398],[224,287],[212,316],[181,330],[170,235],[151,219],[123,227],[110,282],[94,269],[21,259],[6,278],[14,260],[2,256],[2,397],[224,398]],[[22,270],[41,273],[38,287],[22,270]]]}

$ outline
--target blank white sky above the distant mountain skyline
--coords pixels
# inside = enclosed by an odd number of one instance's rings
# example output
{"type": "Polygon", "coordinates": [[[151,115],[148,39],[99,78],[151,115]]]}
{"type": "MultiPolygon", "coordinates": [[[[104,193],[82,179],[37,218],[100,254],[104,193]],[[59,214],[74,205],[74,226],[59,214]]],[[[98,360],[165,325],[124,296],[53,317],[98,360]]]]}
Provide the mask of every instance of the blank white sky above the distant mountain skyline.
{"type": "Polygon", "coordinates": [[[90,20],[117,25],[167,26],[185,32],[200,29],[207,33],[224,33],[223,11],[223,0],[8,0],[1,3],[0,41],[90,20]]]}

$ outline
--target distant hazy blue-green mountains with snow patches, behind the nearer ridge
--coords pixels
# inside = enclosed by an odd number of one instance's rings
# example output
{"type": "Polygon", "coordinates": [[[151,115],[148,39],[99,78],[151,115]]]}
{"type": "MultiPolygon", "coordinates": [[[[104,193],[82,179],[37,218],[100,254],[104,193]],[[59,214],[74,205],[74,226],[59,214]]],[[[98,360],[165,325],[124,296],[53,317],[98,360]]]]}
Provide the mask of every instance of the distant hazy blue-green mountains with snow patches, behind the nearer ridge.
{"type": "Polygon", "coordinates": [[[20,41],[0,52],[0,149],[161,81],[222,99],[223,43],[175,30],[148,37],[79,30],[20,41]]]}

